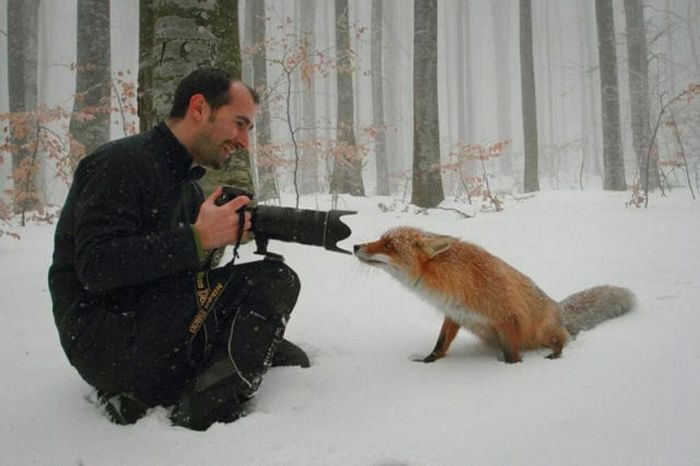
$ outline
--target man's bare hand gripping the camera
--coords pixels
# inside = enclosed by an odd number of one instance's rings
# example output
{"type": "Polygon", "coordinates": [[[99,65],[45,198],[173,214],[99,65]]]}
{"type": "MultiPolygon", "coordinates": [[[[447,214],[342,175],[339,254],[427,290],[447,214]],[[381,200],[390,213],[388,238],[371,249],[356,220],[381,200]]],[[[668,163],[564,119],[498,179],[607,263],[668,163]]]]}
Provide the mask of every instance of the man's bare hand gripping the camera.
{"type": "Polygon", "coordinates": [[[244,225],[240,225],[238,216],[238,210],[246,206],[250,199],[238,196],[224,205],[217,206],[214,201],[221,193],[221,186],[217,186],[199,208],[197,221],[194,223],[205,251],[234,244],[238,239],[239,228],[243,227],[243,231],[248,231],[251,227],[250,212],[245,212],[244,225]]]}

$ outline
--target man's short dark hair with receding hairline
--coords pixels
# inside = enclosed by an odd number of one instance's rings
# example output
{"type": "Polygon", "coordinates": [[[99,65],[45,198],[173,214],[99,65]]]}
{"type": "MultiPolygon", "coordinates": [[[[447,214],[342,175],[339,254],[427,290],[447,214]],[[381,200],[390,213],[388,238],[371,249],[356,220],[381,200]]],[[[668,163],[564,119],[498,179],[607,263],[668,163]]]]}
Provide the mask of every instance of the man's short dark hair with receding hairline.
{"type": "MultiPolygon", "coordinates": [[[[231,83],[238,80],[231,74],[220,68],[200,68],[194,70],[180,81],[175,89],[173,96],[173,105],[170,108],[169,118],[183,118],[187,113],[187,107],[190,104],[190,99],[195,94],[202,94],[204,100],[211,108],[212,112],[229,103],[231,96],[229,88],[231,83]]],[[[240,81],[250,95],[253,97],[255,104],[260,103],[258,93],[240,81]]]]}

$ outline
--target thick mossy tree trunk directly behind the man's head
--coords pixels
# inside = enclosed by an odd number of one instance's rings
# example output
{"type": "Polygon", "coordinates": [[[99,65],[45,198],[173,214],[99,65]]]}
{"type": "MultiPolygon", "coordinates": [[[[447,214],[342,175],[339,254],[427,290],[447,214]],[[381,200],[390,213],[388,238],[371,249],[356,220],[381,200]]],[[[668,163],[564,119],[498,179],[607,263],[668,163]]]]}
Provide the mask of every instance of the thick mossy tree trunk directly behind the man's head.
{"type": "MultiPolygon", "coordinates": [[[[191,71],[214,66],[241,76],[238,0],[140,2],[139,117],[141,128],[164,120],[178,82],[191,71]]],[[[247,151],[236,151],[222,170],[208,170],[205,193],[217,184],[254,191],[247,151]]]]}

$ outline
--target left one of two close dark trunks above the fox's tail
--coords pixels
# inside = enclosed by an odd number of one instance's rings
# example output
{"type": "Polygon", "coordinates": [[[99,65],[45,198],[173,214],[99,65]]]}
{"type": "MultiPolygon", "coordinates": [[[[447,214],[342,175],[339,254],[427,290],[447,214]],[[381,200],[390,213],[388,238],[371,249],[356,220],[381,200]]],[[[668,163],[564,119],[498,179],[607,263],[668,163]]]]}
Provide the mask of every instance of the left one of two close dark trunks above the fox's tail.
{"type": "Polygon", "coordinates": [[[603,121],[603,189],[624,191],[625,163],[622,158],[620,98],[617,84],[617,51],[612,0],[596,0],[598,57],[603,121]]]}

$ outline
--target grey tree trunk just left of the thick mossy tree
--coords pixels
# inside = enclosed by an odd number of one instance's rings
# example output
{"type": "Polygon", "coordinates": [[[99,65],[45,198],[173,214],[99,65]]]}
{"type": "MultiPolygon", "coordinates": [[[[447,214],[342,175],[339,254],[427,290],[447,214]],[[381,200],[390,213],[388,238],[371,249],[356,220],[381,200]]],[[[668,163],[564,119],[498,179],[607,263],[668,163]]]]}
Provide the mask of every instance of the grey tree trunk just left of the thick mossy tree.
{"type": "Polygon", "coordinates": [[[111,54],[109,0],[78,0],[75,101],[70,133],[75,159],[109,141],[111,54]]]}

